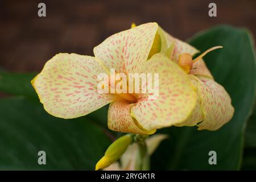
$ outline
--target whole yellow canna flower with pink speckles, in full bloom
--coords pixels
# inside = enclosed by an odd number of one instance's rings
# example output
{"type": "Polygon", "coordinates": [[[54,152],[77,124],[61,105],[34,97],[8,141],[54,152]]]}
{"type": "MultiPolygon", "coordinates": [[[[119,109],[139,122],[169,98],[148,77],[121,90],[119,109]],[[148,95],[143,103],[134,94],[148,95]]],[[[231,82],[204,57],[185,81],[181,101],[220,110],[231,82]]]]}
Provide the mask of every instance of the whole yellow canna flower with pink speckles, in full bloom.
{"type": "MultiPolygon", "coordinates": [[[[168,126],[217,130],[234,109],[225,89],[213,80],[197,49],[167,34],[157,23],[119,32],[93,49],[94,57],[59,53],[32,81],[51,115],[77,118],[110,104],[114,131],[153,134],[168,126]],[[159,97],[149,93],[98,93],[101,73],[158,73],[159,97]]],[[[110,88],[110,85],[102,85],[110,88]]]]}

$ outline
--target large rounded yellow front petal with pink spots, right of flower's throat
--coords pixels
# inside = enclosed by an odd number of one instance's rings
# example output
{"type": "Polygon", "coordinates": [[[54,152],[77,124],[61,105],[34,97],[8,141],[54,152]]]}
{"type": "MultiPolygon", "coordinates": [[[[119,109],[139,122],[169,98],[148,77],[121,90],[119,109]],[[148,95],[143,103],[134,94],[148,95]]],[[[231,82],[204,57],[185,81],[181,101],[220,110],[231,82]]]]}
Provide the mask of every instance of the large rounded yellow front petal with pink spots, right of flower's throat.
{"type": "Polygon", "coordinates": [[[163,53],[144,65],[145,73],[159,73],[159,97],[150,100],[141,95],[131,107],[131,115],[144,129],[160,129],[184,122],[196,106],[196,88],[188,75],[163,53]]]}

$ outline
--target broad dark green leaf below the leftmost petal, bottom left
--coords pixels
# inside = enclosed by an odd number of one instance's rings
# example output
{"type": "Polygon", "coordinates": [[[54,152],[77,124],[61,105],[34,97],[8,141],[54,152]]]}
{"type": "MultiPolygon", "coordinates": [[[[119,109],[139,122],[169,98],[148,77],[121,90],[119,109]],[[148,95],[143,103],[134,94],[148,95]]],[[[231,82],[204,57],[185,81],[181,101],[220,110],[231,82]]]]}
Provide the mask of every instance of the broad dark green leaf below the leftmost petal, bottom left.
{"type": "Polygon", "coordinates": [[[23,98],[0,100],[0,169],[90,169],[110,144],[89,118],[60,119],[23,98]],[[46,152],[46,165],[38,152],[46,152]]]}

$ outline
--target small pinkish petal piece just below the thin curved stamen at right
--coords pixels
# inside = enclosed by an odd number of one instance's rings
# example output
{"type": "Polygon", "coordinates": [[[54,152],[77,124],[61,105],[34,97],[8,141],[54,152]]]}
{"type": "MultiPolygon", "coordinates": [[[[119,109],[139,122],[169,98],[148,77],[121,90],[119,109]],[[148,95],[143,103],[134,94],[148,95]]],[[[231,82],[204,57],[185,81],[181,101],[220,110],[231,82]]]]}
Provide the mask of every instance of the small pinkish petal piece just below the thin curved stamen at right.
{"type": "Polygon", "coordinates": [[[209,69],[207,68],[207,65],[204,63],[203,59],[200,59],[196,61],[196,63],[193,63],[193,66],[189,74],[207,76],[213,79],[213,76],[210,73],[209,69]]]}

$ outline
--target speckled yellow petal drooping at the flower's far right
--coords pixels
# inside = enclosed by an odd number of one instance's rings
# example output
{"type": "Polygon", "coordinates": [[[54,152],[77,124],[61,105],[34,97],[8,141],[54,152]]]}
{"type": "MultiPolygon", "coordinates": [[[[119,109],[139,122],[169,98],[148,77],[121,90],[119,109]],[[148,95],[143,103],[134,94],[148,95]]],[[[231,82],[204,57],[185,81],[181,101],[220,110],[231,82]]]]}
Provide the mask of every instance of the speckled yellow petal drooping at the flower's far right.
{"type": "Polygon", "coordinates": [[[204,76],[190,77],[198,89],[204,121],[197,125],[199,130],[217,130],[230,121],[234,114],[229,94],[223,86],[204,76]]]}

